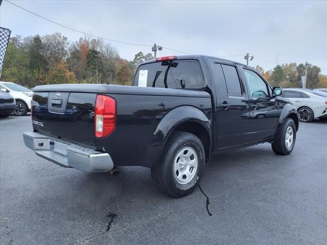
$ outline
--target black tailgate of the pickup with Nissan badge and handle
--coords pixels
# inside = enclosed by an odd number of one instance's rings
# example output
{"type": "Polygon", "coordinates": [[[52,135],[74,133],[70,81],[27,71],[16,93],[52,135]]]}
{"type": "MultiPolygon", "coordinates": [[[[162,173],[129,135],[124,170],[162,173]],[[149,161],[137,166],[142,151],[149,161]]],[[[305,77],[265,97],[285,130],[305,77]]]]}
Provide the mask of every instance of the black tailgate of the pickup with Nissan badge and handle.
{"type": "Polygon", "coordinates": [[[34,131],[95,147],[94,109],[96,93],[34,92],[34,131]]]}

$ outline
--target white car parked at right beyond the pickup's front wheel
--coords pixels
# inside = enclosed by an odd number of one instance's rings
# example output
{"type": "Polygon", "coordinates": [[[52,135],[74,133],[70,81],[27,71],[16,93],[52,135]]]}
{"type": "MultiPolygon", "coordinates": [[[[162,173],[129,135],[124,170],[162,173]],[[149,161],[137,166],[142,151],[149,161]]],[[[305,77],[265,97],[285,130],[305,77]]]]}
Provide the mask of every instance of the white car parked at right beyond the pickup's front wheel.
{"type": "Polygon", "coordinates": [[[298,119],[310,122],[314,118],[327,119],[327,98],[314,94],[309,89],[284,88],[282,97],[295,106],[298,119]]]}

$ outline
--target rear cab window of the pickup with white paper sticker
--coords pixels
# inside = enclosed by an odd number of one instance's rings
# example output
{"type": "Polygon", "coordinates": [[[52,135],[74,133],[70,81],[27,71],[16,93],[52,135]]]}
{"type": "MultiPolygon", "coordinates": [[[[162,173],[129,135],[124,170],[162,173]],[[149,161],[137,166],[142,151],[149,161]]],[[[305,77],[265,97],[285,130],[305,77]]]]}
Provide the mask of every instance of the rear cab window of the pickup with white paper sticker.
{"type": "Polygon", "coordinates": [[[139,66],[133,86],[199,89],[203,88],[203,78],[198,61],[170,60],[139,66]]]}

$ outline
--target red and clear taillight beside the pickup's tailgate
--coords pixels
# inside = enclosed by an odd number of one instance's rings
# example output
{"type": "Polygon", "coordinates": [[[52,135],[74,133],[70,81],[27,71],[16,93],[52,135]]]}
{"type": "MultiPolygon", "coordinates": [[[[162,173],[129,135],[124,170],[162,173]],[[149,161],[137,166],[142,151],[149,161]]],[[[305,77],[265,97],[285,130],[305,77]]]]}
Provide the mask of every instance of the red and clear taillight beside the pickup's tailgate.
{"type": "Polygon", "coordinates": [[[111,134],[116,127],[116,101],[108,95],[98,94],[94,119],[96,138],[111,134]]]}

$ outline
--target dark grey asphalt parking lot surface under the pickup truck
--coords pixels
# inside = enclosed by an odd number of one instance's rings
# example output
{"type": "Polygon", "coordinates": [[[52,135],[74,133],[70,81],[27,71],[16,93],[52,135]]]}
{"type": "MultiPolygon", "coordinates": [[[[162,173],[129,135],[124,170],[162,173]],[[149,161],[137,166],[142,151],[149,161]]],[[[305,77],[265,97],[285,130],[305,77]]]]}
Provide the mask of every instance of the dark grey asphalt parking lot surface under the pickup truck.
{"type": "Polygon", "coordinates": [[[168,198],[144,167],[88,174],[37,157],[30,116],[0,128],[1,244],[326,244],[326,122],[300,124],[289,156],[268,143],[213,156],[208,210],[199,188],[168,198]]]}

